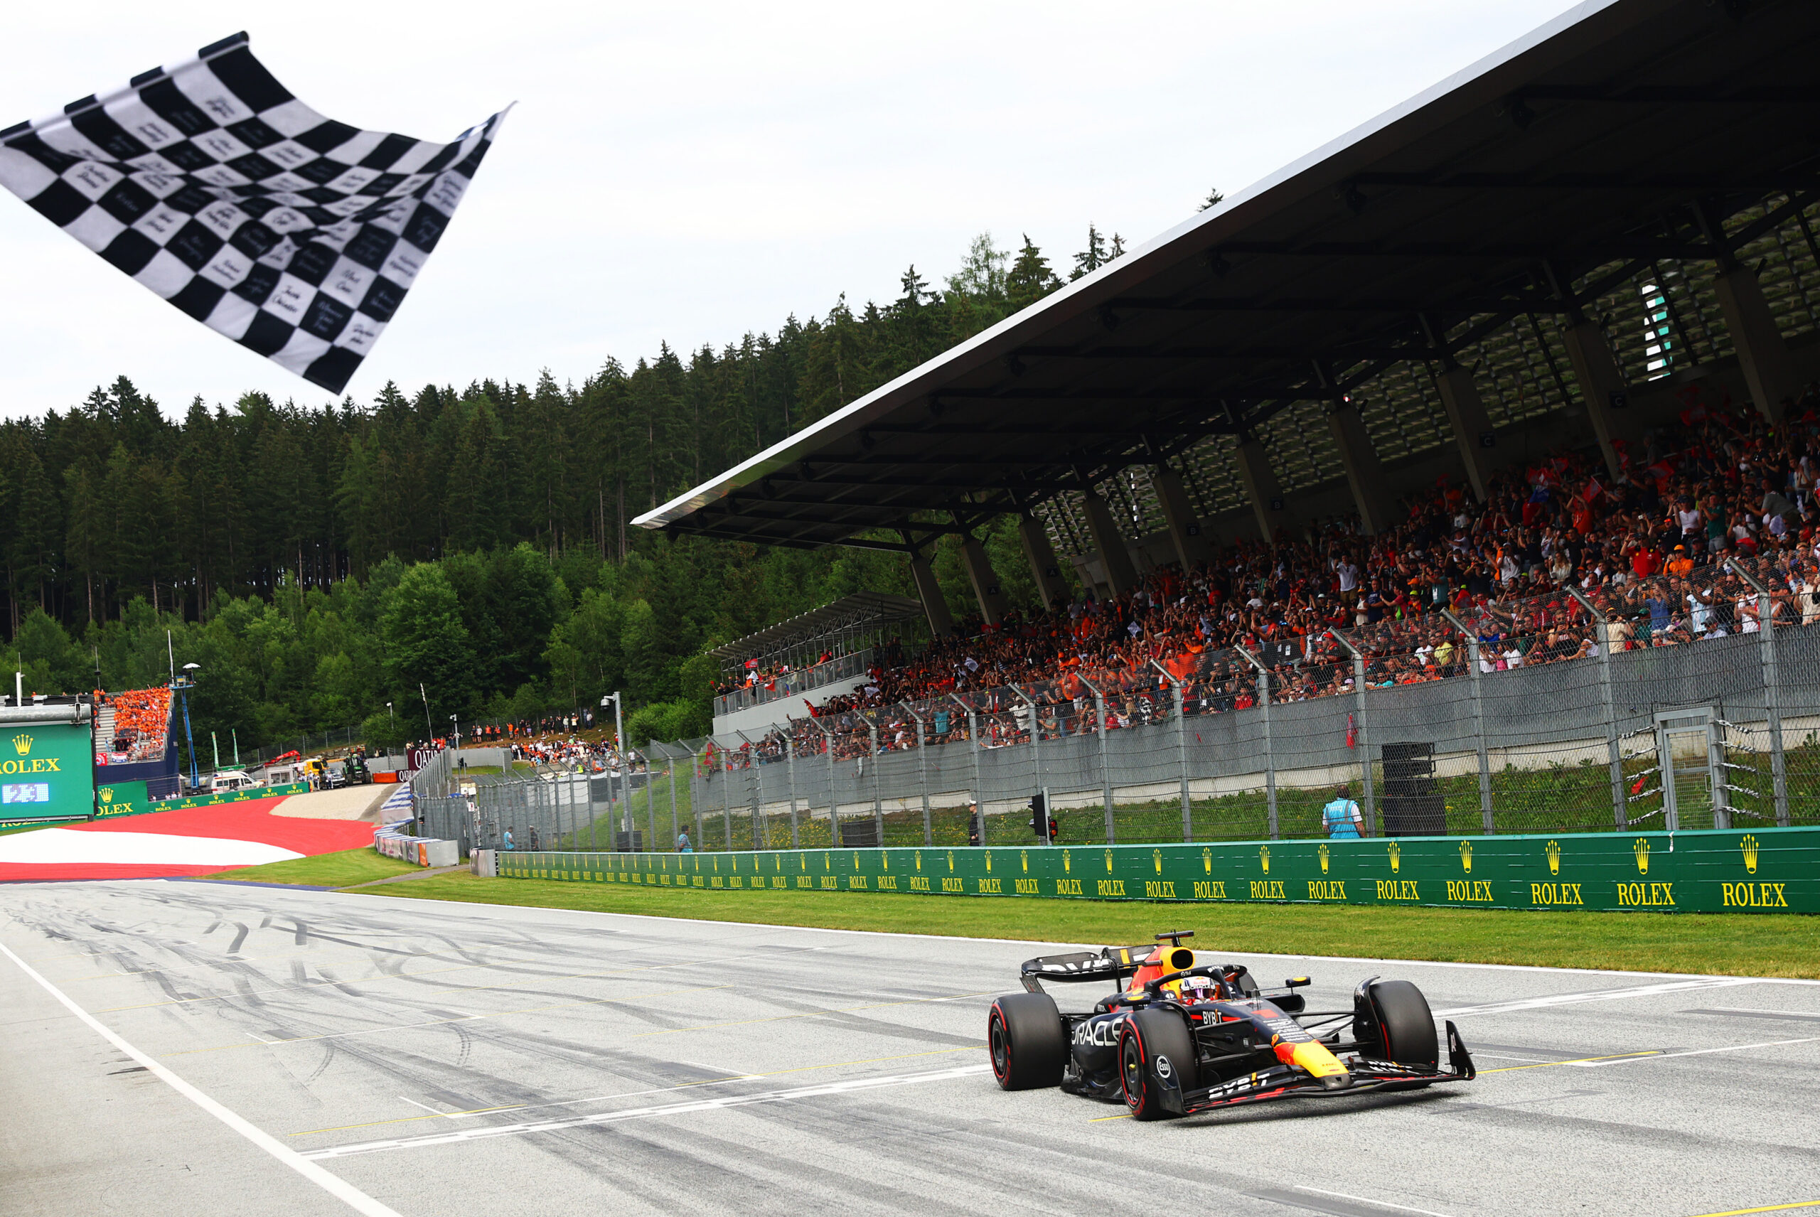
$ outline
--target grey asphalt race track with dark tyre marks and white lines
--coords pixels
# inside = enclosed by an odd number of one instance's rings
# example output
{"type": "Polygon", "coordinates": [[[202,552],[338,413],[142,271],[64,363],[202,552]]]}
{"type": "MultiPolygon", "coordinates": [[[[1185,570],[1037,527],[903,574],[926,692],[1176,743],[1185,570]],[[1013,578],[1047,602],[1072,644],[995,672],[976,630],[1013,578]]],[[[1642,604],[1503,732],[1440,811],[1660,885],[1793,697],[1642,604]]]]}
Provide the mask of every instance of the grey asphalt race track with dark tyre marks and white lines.
{"type": "Polygon", "coordinates": [[[1318,1008],[1416,981],[1480,1081],[1138,1124],[992,1084],[986,1002],[1054,946],[195,880],[9,886],[0,913],[4,1213],[1820,1201],[1805,982],[1232,955],[1267,982],[1312,973],[1318,1008]]]}

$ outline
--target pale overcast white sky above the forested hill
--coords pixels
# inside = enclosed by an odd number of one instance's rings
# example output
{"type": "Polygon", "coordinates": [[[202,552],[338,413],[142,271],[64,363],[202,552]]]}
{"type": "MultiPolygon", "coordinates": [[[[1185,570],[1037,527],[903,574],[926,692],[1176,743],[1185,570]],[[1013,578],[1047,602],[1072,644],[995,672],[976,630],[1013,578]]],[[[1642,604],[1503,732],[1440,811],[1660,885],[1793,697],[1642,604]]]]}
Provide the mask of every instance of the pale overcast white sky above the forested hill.
{"type": "MultiPolygon", "coordinates": [[[[244,27],[297,96],[448,140],[519,107],[348,386],[581,380],[932,282],[1028,233],[1138,244],[1465,67],[1565,0],[661,5],[89,0],[7,16],[0,127],[244,27]],[[235,16],[222,16],[233,11],[235,16]]],[[[0,191],[0,413],[131,377],[328,395],[189,320],[0,191]]]]}

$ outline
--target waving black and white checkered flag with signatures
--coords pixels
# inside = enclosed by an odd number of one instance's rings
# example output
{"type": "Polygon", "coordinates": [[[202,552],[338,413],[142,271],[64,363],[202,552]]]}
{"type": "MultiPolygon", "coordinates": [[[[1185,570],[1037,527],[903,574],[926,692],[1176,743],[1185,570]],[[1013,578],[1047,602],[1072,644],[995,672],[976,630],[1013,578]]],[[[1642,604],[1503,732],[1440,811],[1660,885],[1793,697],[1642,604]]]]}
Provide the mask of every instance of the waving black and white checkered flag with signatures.
{"type": "Polygon", "coordinates": [[[240,346],[340,393],[504,113],[453,144],[309,109],[235,35],[0,131],[0,186],[240,346]]]}

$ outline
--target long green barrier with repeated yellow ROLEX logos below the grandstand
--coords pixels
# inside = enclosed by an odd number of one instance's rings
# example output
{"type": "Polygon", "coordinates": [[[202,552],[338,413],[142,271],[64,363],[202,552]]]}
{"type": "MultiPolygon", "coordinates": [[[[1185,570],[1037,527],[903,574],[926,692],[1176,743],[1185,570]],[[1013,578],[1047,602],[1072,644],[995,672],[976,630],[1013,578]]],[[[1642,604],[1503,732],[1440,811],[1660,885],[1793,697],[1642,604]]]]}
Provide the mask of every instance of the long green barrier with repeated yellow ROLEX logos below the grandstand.
{"type": "Polygon", "coordinates": [[[721,891],[1820,913],[1820,828],[1205,846],[499,855],[499,875],[721,891]]]}

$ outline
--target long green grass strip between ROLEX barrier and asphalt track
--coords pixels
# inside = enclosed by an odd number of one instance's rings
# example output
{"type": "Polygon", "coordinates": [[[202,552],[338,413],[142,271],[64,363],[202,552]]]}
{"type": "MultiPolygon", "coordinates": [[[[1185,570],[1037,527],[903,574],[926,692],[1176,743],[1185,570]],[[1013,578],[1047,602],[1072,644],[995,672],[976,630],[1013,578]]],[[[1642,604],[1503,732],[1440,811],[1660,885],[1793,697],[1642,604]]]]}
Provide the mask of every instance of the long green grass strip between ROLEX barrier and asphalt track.
{"type": "Polygon", "coordinates": [[[1145,942],[1158,930],[1183,928],[1198,931],[1194,944],[1199,950],[1216,951],[1820,977],[1820,917],[1378,910],[1320,904],[1119,904],[844,891],[675,891],[539,879],[477,879],[466,871],[368,891],[475,904],[886,933],[945,933],[963,939],[1145,942]]]}

